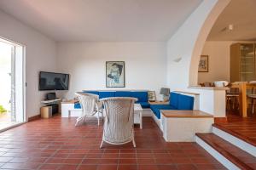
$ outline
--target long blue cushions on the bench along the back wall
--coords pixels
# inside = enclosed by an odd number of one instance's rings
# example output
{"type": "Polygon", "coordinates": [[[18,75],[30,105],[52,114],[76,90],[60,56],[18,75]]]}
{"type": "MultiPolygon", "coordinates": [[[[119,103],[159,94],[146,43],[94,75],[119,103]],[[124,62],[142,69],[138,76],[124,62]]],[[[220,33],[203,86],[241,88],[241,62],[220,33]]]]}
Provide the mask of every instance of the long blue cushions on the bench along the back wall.
{"type": "MultiPolygon", "coordinates": [[[[143,108],[149,108],[148,103],[148,91],[92,91],[84,90],[84,93],[96,94],[99,95],[100,99],[109,98],[109,97],[133,97],[137,98],[137,102],[142,105],[143,108]]],[[[76,103],[74,105],[75,109],[80,109],[81,105],[76,103]]]]}

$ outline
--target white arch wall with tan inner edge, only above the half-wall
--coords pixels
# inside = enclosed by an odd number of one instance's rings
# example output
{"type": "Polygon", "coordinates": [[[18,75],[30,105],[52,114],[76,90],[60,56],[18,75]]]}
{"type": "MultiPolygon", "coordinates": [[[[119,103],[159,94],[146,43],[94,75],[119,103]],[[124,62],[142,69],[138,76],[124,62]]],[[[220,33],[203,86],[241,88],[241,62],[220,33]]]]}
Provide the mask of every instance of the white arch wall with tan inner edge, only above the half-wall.
{"type": "Polygon", "coordinates": [[[167,42],[167,86],[183,90],[197,85],[201,50],[218,15],[230,0],[204,0],[167,42]]]}

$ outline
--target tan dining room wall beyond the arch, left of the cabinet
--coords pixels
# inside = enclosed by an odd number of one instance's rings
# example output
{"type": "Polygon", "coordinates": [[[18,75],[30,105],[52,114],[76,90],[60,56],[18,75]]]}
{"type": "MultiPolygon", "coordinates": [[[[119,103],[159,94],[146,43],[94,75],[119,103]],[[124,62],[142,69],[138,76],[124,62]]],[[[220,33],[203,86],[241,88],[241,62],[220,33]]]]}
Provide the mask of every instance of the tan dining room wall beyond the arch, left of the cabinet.
{"type": "Polygon", "coordinates": [[[201,52],[209,56],[209,72],[199,72],[198,82],[230,82],[230,45],[234,42],[207,41],[201,52]]]}

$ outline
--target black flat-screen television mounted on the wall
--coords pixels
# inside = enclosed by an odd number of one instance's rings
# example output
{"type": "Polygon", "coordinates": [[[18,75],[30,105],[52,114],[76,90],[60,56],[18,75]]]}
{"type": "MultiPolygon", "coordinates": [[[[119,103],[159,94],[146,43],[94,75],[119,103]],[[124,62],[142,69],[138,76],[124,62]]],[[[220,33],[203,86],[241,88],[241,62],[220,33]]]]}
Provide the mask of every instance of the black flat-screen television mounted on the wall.
{"type": "Polygon", "coordinates": [[[40,71],[39,90],[68,90],[69,75],[40,71]]]}

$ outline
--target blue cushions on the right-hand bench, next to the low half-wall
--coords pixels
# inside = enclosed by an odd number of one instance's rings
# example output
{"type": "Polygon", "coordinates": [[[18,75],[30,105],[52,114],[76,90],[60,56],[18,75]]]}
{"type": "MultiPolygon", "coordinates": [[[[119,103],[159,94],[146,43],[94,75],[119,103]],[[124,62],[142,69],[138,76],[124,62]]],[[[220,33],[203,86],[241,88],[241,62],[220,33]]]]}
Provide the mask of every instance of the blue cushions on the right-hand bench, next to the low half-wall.
{"type": "Polygon", "coordinates": [[[194,97],[192,96],[172,92],[169,100],[169,105],[150,105],[150,109],[158,119],[161,115],[160,110],[193,110],[194,97]]]}

